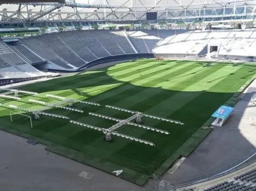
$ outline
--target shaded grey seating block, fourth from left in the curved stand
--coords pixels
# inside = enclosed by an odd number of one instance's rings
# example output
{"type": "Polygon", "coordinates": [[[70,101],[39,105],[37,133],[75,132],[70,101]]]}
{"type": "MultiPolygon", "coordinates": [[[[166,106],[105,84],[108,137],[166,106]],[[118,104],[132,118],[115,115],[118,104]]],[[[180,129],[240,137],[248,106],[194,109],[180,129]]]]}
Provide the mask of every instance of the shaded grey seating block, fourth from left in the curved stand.
{"type": "Polygon", "coordinates": [[[97,59],[71,31],[58,33],[57,35],[83,60],[90,62],[97,59]]]}

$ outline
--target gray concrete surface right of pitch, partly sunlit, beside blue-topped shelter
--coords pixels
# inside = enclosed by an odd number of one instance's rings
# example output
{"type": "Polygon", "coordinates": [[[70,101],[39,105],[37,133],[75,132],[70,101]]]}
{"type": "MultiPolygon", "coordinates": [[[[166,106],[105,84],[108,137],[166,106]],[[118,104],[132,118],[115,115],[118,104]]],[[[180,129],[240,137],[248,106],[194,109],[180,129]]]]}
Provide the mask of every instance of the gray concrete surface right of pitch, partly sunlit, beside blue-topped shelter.
{"type": "Polygon", "coordinates": [[[256,81],[235,105],[234,112],[221,128],[215,128],[173,173],[165,173],[162,180],[179,181],[208,173],[228,165],[256,148],[256,106],[250,103],[256,93],[256,81]]]}

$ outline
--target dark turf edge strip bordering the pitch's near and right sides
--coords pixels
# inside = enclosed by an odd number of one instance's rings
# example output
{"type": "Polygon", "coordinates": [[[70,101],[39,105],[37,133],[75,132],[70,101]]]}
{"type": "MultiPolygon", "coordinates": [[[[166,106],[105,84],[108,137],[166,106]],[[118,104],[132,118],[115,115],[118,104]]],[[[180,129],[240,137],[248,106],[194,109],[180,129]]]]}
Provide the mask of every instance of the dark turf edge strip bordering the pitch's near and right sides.
{"type": "MultiPolygon", "coordinates": [[[[256,75],[255,75],[256,76],[256,75]]],[[[239,91],[233,94],[233,96],[226,101],[223,105],[228,105],[233,107],[239,100],[240,100],[240,95],[242,94],[243,91],[246,90],[246,88],[253,82],[255,79],[255,76],[249,79],[241,88],[239,91]]],[[[163,173],[165,173],[171,166],[172,164],[178,160],[181,156],[188,157],[194,149],[197,148],[197,146],[204,140],[206,136],[209,135],[212,129],[203,129],[205,126],[210,126],[210,124],[213,122],[214,118],[209,118],[201,128],[199,128],[196,132],[193,133],[193,135],[187,139],[187,141],[182,144],[182,146],[174,152],[173,155],[171,155],[155,172],[155,176],[158,178],[161,177],[163,173]]],[[[121,167],[117,164],[113,164],[110,162],[106,161],[101,161],[99,158],[96,158],[94,156],[89,156],[86,154],[82,154],[81,152],[65,148],[61,145],[53,144],[52,142],[46,141],[45,139],[41,139],[38,137],[33,137],[31,135],[28,135],[26,133],[16,131],[13,129],[8,129],[4,128],[3,126],[0,126],[0,130],[12,133],[17,136],[21,136],[27,139],[36,139],[38,143],[44,144],[47,147],[45,150],[51,151],[55,154],[62,155],[64,157],[70,158],[71,160],[75,160],[80,163],[84,163],[87,165],[90,165],[96,169],[100,169],[102,171],[105,171],[106,173],[109,173],[111,175],[114,175],[112,171],[114,170],[120,170],[123,169],[124,172],[119,175],[122,179],[125,179],[127,181],[130,181],[132,183],[136,183],[139,186],[143,186],[145,182],[148,181],[150,176],[138,173],[137,171],[121,167]]]]}

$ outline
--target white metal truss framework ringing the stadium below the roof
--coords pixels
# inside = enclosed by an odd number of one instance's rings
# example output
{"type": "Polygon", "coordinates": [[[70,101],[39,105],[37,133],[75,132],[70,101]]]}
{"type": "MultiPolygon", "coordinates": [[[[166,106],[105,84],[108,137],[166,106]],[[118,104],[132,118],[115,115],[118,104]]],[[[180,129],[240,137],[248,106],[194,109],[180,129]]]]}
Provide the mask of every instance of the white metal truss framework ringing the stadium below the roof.
{"type": "MultiPolygon", "coordinates": [[[[130,0],[131,1],[131,0],[130,0]]],[[[222,17],[249,17],[255,15],[256,4],[241,4],[247,0],[222,0],[222,1],[202,1],[200,3],[176,3],[176,4],[161,4],[161,0],[153,5],[134,5],[133,1],[120,5],[109,5],[106,0],[103,4],[89,5],[74,3],[73,0],[66,4],[54,3],[28,3],[23,6],[17,5],[17,10],[0,10],[2,22],[26,23],[39,21],[112,21],[112,20],[145,20],[147,11],[157,11],[159,19],[164,20],[186,20],[187,17],[194,19],[208,18],[212,20],[222,20],[222,17]],[[240,3],[237,5],[237,3],[240,3]],[[219,4],[218,8],[211,8],[211,4],[219,4]],[[33,11],[31,5],[40,6],[40,11],[33,11]],[[208,6],[209,5],[209,6],[208,6]],[[72,7],[74,9],[62,11],[62,7],[72,7]],[[154,7],[154,9],[153,9],[154,7]],[[176,9],[179,7],[179,9],[176,9]],[[89,11],[77,8],[90,8],[89,11]],[[56,11],[57,9],[60,9],[56,11]],[[121,10],[120,10],[121,9],[121,10]]],[[[248,0],[249,1],[249,0],[248,0]]],[[[38,8],[37,8],[38,9],[38,8]]]]}

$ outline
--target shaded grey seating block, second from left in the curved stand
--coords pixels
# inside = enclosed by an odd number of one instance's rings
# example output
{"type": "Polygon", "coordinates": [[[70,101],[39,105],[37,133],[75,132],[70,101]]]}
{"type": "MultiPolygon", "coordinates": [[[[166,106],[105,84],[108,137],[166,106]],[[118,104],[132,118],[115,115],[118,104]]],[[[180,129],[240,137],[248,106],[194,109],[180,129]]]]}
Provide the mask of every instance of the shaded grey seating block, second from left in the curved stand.
{"type": "Polygon", "coordinates": [[[67,65],[65,61],[59,58],[58,55],[56,55],[48,47],[46,47],[44,43],[36,40],[34,37],[31,37],[28,39],[22,39],[22,41],[25,42],[26,45],[28,45],[30,48],[35,50],[37,54],[41,55],[46,60],[56,63],[56,65],[59,65],[66,69],[72,68],[69,65],[67,65]]]}

